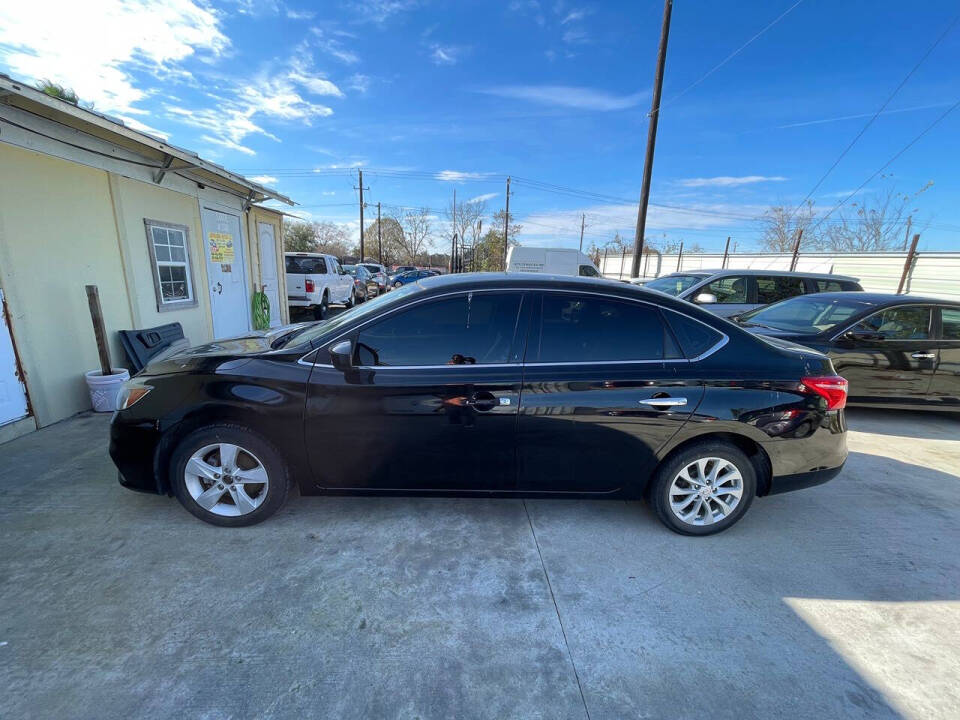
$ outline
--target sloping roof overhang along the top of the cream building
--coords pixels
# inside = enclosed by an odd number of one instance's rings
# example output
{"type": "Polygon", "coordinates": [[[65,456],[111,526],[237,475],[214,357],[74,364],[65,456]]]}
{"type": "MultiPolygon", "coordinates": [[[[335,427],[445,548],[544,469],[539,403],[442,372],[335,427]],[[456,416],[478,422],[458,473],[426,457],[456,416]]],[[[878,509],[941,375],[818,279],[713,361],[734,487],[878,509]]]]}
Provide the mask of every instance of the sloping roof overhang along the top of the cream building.
{"type": "Polygon", "coordinates": [[[286,195],[252,182],[243,175],[230,172],[216,163],[204,160],[196,153],[171,145],[147,133],[132,130],[101,113],[77,107],[66,100],[47,95],[3,74],[0,74],[0,102],[156,161],[154,182],[160,183],[167,173],[175,172],[189,176],[196,182],[209,184],[212,187],[219,186],[246,196],[249,203],[278,200],[287,205],[296,205],[286,195]]]}

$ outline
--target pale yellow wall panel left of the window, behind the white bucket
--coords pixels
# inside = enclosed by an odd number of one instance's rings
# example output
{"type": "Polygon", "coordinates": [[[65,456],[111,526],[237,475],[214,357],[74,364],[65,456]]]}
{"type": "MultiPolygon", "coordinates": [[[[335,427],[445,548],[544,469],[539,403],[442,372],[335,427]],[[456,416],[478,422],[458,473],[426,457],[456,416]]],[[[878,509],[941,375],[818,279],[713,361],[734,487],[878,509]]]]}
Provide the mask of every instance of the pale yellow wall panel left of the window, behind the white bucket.
{"type": "MultiPolygon", "coordinates": [[[[39,425],[90,407],[99,367],[84,285],[108,329],[132,327],[108,175],[0,145],[0,284],[39,425]]],[[[111,334],[111,357],[122,365],[111,334]]]]}

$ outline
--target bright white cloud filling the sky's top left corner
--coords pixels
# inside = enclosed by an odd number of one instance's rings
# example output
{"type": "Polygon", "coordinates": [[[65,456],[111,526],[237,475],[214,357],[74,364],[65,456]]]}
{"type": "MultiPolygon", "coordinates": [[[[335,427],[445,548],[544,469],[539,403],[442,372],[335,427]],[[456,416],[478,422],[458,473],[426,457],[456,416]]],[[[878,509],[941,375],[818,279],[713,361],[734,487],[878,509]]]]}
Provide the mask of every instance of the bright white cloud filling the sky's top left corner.
{"type": "Polygon", "coordinates": [[[194,55],[230,46],[220,16],[194,0],[0,3],[0,62],[28,80],[73,88],[98,110],[142,113],[134,70],[164,75],[194,55]]]}

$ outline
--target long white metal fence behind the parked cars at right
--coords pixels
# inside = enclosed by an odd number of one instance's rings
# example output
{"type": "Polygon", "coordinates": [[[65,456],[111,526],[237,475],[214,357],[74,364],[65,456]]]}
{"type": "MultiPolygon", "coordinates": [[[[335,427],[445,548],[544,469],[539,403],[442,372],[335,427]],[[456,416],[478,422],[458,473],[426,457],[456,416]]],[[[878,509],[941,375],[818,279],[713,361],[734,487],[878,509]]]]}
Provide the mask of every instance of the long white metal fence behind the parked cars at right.
{"type": "MultiPolygon", "coordinates": [[[[906,252],[803,253],[797,259],[800,272],[823,272],[858,278],[864,290],[895,293],[907,261],[906,252]]],[[[723,253],[684,254],[679,266],[676,255],[645,255],[642,276],[651,279],[678,270],[715,270],[723,267],[723,253]]],[[[726,268],[789,270],[790,253],[737,253],[726,259],[726,268]]],[[[604,277],[630,277],[631,255],[608,256],[600,261],[604,277]]],[[[960,301],[960,252],[922,252],[913,257],[903,292],[960,301]]]]}

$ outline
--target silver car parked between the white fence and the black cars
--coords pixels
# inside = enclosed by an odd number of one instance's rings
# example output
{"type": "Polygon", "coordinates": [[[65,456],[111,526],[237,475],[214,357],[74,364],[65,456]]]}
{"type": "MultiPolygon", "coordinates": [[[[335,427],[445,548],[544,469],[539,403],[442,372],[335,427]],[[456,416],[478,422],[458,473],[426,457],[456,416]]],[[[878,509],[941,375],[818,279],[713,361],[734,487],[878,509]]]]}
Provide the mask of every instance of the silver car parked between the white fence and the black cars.
{"type": "Polygon", "coordinates": [[[647,280],[643,287],[732,317],[796,295],[863,290],[857,278],[786,270],[696,270],[647,280]]]}

